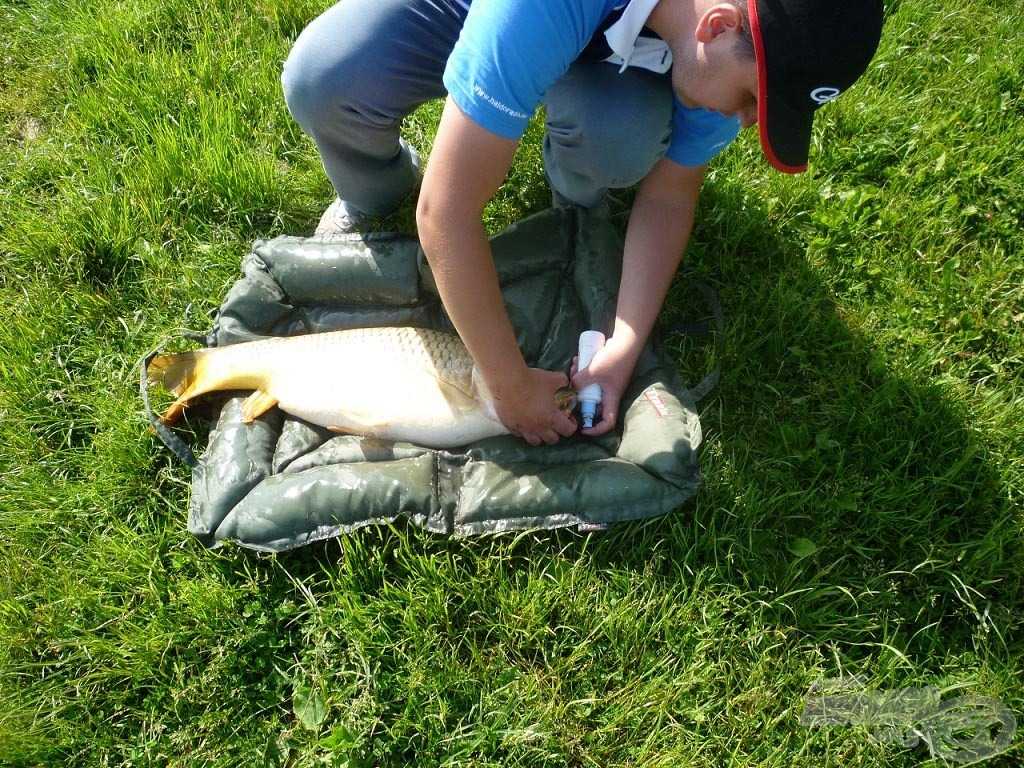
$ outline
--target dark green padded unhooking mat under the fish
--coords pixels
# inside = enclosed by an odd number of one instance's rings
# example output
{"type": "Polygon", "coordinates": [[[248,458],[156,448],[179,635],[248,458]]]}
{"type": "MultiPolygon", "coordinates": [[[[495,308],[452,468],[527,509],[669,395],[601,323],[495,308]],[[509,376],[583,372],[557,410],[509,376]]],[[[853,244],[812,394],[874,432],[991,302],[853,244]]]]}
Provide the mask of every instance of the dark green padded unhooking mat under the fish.
{"type": "MultiPolygon", "coordinates": [[[[495,236],[492,247],[526,361],[567,373],[580,333],[610,330],[617,233],[606,219],[552,209],[495,236]]],[[[242,269],[210,346],[356,327],[454,330],[412,236],[260,241],[242,269]]],[[[178,433],[155,427],[193,465],[188,530],[207,546],[230,540],[278,552],[399,518],[469,536],[663,514],[699,482],[702,391],[687,389],[649,342],[618,428],[599,438],[534,447],[507,435],[432,450],[340,435],[278,409],[244,424],[246,392],[218,401],[199,459],[178,433]]]]}

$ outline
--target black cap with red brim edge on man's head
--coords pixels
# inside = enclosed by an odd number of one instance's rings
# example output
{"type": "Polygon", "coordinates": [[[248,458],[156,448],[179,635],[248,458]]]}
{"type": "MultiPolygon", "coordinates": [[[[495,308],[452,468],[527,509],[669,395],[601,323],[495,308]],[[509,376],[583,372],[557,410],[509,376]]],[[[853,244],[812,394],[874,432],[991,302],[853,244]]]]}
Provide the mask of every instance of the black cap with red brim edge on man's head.
{"type": "Polygon", "coordinates": [[[807,169],[814,111],[867,69],[882,0],[748,0],[758,62],[761,147],[785,173],[807,169]]]}

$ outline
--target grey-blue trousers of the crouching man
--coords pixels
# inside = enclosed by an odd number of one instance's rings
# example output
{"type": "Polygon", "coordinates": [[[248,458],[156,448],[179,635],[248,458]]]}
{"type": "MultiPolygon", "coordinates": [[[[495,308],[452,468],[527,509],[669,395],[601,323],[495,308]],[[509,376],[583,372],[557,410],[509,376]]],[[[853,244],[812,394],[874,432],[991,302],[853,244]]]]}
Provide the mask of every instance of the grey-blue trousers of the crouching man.
{"type": "MultiPolygon", "coordinates": [[[[455,0],[341,0],[298,37],[282,74],[288,109],[338,197],[392,211],[419,179],[401,121],[445,95],[466,10],[455,0]]],[[[669,75],[580,60],[544,97],[544,166],[557,199],[592,206],[643,178],[669,145],[669,75]]]]}

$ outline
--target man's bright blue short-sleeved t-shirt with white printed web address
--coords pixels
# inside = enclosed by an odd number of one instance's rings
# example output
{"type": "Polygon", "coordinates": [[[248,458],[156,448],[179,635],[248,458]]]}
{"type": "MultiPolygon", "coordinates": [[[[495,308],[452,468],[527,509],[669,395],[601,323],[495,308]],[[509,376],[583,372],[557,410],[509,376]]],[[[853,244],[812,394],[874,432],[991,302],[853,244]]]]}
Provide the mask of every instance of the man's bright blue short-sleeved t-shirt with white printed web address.
{"type": "MultiPolygon", "coordinates": [[[[624,5],[622,0],[473,3],[444,70],[444,87],[474,123],[518,139],[548,87],[624,5]]],[[[690,109],[676,98],[666,157],[701,166],[738,133],[738,118],[690,109]]]]}

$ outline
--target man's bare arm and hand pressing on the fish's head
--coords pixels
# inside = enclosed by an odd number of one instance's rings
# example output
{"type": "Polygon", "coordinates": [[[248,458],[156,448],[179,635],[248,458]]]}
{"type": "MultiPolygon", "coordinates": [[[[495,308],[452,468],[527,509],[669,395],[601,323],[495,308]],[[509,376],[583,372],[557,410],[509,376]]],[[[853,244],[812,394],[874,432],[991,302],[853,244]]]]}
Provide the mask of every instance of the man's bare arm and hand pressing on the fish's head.
{"type": "Polygon", "coordinates": [[[530,369],[502,303],[483,207],[505,179],[517,141],[484,130],[449,98],[416,212],[420,244],[441,301],[494,397],[502,423],[530,444],[575,431],[558,410],[564,374],[530,369]]]}

